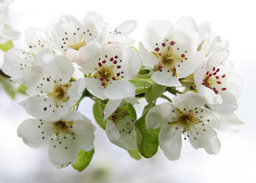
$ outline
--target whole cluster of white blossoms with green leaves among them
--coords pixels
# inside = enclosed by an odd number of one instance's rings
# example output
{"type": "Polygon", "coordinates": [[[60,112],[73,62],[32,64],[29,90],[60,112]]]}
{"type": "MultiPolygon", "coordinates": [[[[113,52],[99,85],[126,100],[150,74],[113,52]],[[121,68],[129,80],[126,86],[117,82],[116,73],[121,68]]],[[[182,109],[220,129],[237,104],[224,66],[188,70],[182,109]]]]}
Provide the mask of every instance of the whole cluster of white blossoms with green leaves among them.
{"type": "Polygon", "coordinates": [[[28,98],[20,104],[34,117],[21,123],[18,136],[33,148],[48,144],[57,168],[94,152],[96,127],[77,111],[83,98],[95,101],[95,120],[110,142],[133,157],[152,157],[159,146],[179,159],[182,137],[217,154],[216,130],[243,123],[235,114],[243,82],[231,70],[228,41],[210,24],[152,21],[138,50],[129,36],[135,28],[133,20],[110,28],[93,11],[83,21],[64,14],[53,30],[28,28],[27,50],[5,53],[2,69],[25,85],[28,98]],[[139,98],[148,104],[137,119],[139,98]],[[156,104],[158,98],[166,103],[156,104]]]}

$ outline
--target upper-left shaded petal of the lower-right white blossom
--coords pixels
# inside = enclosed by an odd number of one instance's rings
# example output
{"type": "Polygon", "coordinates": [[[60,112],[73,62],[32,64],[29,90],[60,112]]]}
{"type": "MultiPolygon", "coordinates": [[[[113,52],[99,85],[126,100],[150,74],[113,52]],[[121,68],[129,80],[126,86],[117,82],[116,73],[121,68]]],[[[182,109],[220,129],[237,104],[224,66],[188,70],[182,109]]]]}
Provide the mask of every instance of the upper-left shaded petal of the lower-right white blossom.
{"type": "Polygon", "coordinates": [[[146,129],[162,127],[172,119],[172,105],[169,103],[156,105],[146,114],[146,129]]]}

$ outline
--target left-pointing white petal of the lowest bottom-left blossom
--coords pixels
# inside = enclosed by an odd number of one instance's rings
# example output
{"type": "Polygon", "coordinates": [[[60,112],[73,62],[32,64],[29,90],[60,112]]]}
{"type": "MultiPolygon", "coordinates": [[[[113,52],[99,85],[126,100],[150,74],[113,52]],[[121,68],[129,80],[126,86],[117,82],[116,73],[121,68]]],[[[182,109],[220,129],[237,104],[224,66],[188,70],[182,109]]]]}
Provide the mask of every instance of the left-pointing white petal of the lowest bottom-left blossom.
{"type": "Polygon", "coordinates": [[[38,119],[28,119],[18,126],[18,136],[32,148],[44,146],[53,136],[53,126],[38,119]]]}

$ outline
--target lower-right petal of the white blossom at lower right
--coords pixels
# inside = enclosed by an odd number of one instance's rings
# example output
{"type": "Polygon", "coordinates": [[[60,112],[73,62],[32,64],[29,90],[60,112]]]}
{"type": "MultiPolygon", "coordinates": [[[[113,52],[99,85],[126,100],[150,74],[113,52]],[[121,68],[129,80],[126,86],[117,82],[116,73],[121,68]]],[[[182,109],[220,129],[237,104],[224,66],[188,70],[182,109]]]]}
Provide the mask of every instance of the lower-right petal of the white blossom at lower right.
{"type": "Polygon", "coordinates": [[[199,125],[196,125],[195,128],[196,129],[192,128],[189,133],[189,142],[192,146],[195,149],[204,148],[208,154],[218,154],[221,149],[221,143],[218,140],[215,130],[211,127],[207,127],[207,125],[201,128],[199,125]],[[199,132],[199,134],[196,132],[199,132]]]}

